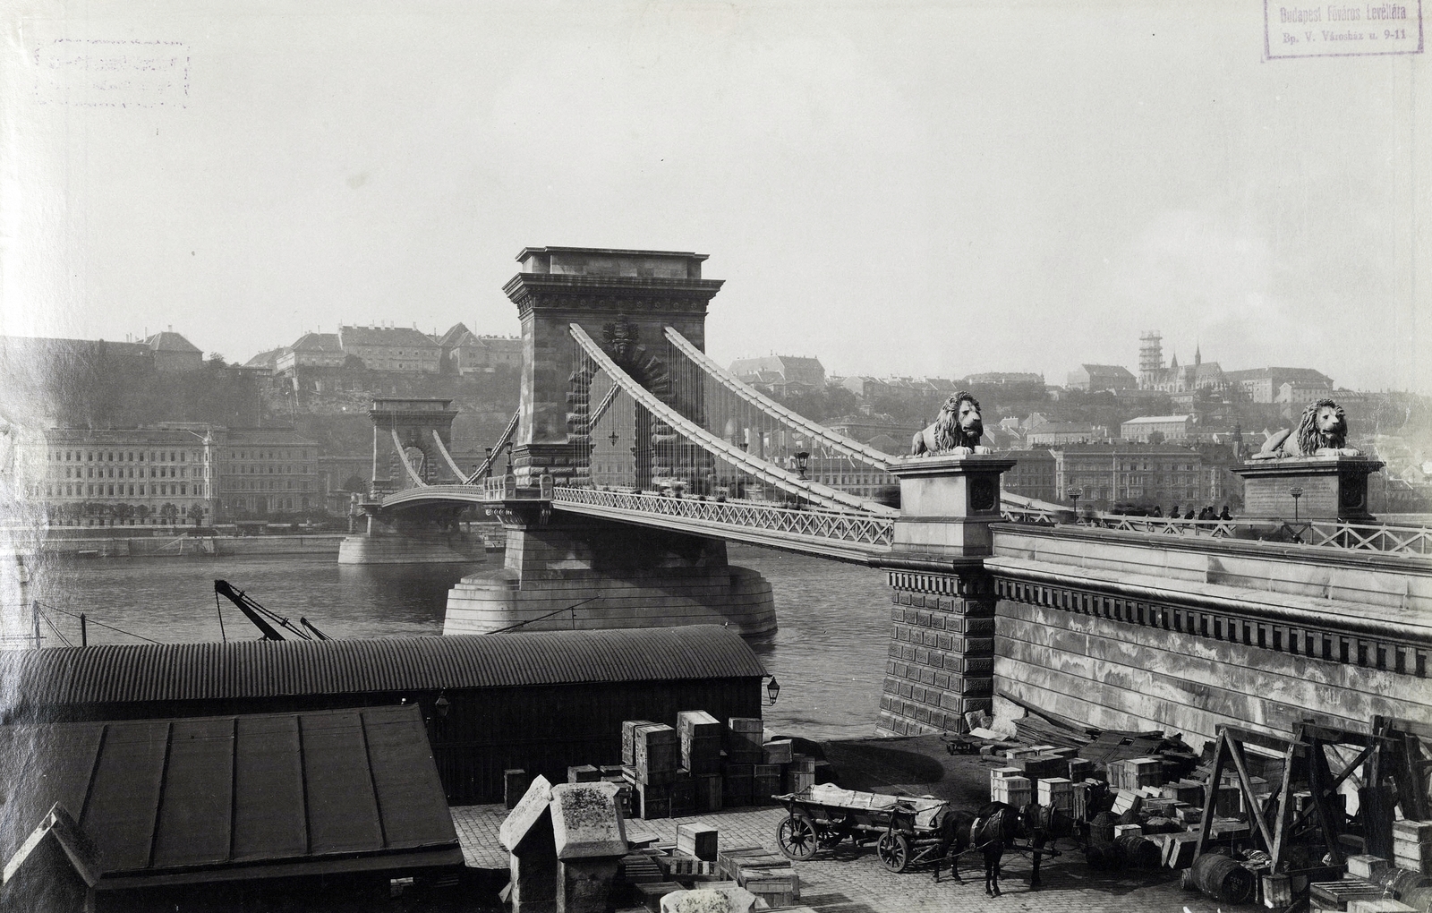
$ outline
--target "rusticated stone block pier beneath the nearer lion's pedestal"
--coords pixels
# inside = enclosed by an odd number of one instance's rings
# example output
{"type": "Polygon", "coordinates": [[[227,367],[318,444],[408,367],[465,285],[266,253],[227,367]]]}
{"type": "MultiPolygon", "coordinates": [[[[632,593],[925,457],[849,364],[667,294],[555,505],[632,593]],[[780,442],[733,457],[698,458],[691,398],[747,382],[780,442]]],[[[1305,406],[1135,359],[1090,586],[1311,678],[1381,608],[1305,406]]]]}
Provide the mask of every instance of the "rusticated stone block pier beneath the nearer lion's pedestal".
{"type": "Polygon", "coordinates": [[[891,571],[891,645],[876,731],[965,731],[964,714],[994,701],[995,598],[979,570],[891,571]]]}

